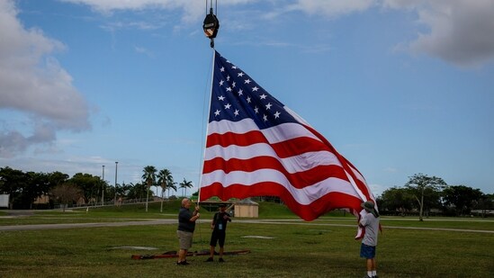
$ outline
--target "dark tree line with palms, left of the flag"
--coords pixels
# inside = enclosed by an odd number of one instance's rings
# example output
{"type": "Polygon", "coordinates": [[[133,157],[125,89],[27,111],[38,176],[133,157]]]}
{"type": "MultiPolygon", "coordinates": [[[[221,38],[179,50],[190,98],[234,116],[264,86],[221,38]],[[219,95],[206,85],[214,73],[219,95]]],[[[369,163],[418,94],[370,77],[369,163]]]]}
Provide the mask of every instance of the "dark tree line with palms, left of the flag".
{"type": "Polygon", "coordinates": [[[0,194],[9,195],[10,209],[45,209],[55,205],[67,205],[76,202],[85,204],[104,204],[133,200],[148,205],[149,195],[154,192],[151,186],[161,187],[161,197],[168,198],[173,190],[192,188],[191,181],[175,183],[168,169],[157,170],[155,166],[145,166],[142,181],[130,184],[108,184],[100,176],[76,173],[72,177],[61,172],[38,173],[23,172],[9,166],[0,168],[0,194]],[[41,197],[48,196],[48,203],[35,203],[41,197]]]}

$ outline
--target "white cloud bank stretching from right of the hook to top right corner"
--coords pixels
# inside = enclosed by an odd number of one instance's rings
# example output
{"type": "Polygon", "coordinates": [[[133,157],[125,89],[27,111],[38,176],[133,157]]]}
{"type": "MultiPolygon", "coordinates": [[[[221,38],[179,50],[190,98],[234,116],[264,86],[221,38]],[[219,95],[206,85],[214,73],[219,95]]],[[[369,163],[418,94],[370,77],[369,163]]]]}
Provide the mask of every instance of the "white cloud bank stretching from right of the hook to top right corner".
{"type": "MultiPolygon", "coordinates": [[[[286,5],[286,4],[285,4],[286,5]]],[[[494,58],[494,2],[492,0],[297,0],[283,12],[322,15],[330,19],[364,12],[374,6],[417,13],[417,40],[398,43],[400,48],[426,53],[460,67],[478,66],[494,58]]]]}

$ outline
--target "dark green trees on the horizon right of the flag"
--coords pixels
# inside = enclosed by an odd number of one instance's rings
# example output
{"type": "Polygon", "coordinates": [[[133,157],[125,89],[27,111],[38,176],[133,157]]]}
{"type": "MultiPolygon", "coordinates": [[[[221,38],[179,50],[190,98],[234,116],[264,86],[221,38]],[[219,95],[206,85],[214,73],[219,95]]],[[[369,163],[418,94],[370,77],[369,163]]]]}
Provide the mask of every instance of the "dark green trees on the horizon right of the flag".
{"type": "Polygon", "coordinates": [[[437,176],[416,174],[402,187],[392,187],[377,198],[381,214],[418,214],[418,219],[437,213],[470,216],[472,211],[487,216],[494,211],[494,194],[466,185],[448,185],[437,176]]]}

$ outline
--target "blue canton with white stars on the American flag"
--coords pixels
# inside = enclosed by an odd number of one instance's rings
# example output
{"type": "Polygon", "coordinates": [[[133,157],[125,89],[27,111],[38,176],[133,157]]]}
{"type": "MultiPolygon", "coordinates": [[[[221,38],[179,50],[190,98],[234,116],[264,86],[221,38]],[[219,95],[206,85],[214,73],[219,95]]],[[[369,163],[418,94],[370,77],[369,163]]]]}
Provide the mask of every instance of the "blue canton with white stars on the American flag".
{"type": "Polygon", "coordinates": [[[251,118],[259,129],[283,122],[298,122],[284,110],[283,103],[215,52],[210,122],[251,118]]]}

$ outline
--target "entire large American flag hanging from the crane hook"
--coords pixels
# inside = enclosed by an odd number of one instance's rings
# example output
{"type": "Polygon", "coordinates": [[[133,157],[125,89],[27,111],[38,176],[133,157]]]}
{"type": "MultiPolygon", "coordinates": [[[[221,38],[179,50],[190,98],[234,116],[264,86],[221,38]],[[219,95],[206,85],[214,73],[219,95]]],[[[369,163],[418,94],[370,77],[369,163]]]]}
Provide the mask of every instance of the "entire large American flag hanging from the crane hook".
{"type": "Polygon", "coordinates": [[[278,196],[303,220],[374,200],[327,139],[215,50],[199,202],[278,196]]]}

